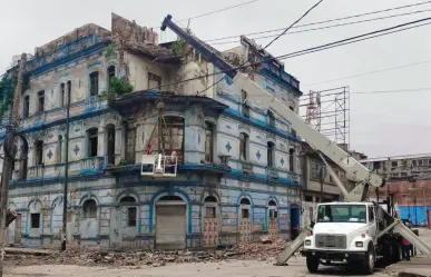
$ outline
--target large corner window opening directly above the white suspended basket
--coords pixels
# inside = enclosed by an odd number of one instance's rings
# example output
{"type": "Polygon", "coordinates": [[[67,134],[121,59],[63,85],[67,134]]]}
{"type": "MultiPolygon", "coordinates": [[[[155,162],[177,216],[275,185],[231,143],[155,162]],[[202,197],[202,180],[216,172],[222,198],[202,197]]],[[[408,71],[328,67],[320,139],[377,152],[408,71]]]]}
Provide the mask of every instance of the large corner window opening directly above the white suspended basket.
{"type": "Polygon", "coordinates": [[[174,150],[178,156],[178,164],[184,160],[184,118],[165,117],[163,128],[163,150],[170,155],[174,150]]]}

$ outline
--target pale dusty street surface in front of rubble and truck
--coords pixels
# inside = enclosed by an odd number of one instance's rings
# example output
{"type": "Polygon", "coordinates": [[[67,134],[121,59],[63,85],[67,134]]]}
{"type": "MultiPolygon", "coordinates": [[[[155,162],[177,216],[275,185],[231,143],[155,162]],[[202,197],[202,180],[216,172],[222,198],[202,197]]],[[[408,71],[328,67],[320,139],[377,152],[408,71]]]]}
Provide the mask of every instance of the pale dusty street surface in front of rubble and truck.
{"type": "MultiPolygon", "coordinates": [[[[420,236],[424,241],[431,244],[431,230],[420,229],[420,236]]],[[[319,274],[312,275],[307,271],[304,257],[293,257],[288,266],[273,266],[275,257],[265,261],[258,260],[223,260],[214,263],[183,263],[148,266],[76,266],[76,265],[51,265],[46,259],[40,259],[33,265],[7,264],[6,276],[76,276],[76,277],[117,277],[117,276],[144,276],[144,277],[218,277],[218,276],[247,276],[247,277],[305,277],[305,276],[359,276],[354,271],[343,267],[320,266],[319,274]]],[[[420,258],[418,258],[420,259],[420,258]]],[[[385,265],[379,265],[374,269],[374,276],[389,276],[384,268],[385,265]]],[[[399,271],[405,271],[413,268],[415,263],[403,261],[391,267],[391,275],[399,271]]]]}

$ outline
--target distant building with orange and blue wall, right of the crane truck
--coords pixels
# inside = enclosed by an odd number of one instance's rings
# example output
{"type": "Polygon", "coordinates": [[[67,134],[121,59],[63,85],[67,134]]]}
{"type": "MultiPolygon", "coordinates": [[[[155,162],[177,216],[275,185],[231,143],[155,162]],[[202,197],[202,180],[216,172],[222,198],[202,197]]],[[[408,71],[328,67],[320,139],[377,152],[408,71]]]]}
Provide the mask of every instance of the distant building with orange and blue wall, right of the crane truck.
{"type": "Polygon", "coordinates": [[[370,189],[370,199],[393,196],[401,218],[431,225],[431,154],[363,159],[361,162],[388,179],[383,188],[370,189]]]}

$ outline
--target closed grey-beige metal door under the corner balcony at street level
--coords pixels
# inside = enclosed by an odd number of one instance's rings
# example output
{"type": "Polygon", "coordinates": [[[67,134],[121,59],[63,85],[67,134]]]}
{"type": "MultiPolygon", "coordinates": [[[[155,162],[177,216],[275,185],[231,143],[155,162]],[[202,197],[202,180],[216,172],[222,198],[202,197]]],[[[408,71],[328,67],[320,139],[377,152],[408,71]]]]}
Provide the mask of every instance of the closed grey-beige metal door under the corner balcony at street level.
{"type": "Polygon", "coordinates": [[[156,206],[156,248],[186,248],[186,205],[156,206]]]}

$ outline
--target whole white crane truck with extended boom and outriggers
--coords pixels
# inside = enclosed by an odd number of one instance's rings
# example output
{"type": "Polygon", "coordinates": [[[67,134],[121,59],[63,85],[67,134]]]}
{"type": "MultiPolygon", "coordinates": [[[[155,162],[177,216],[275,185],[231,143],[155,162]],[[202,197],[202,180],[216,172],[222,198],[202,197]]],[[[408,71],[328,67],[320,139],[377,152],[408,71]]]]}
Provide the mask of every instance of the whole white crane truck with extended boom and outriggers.
{"type": "Polygon", "coordinates": [[[276,265],[285,264],[296,250],[303,247],[306,266],[311,273],[317,271],[320,264],[344,263],[359,265],[365,274],[372,274],[379,256],[394,260],[401,258],[401,236],[411,241],[422,254],[431,254],[431,247],[394,216],[391,201],[388,201],[386,209],[376,202],[366,201],[370,186],[380,188],[385,185],[381,176],[366,169],[335,142],[308,126],[273,93],[266,91],[238,68],[229,65],[214,49],[174,23],[170,14],[164,19],[161,31],[166,28],[213,62],[234,83],[241,85],[242,90],[247,95],[248,105],[261,110],[272,109],[288,120],[291,127],[319,152],[341,191],[342,201],[317,206],[317,218],[313,226],[304,228],[292,245],[282,253],[276,265]],[[346,190],[325,158],[344,169],[346,178],[356,184],[352,191],[346,190]]]}

